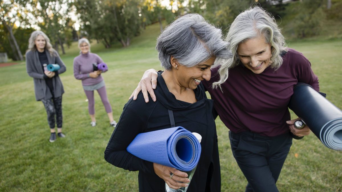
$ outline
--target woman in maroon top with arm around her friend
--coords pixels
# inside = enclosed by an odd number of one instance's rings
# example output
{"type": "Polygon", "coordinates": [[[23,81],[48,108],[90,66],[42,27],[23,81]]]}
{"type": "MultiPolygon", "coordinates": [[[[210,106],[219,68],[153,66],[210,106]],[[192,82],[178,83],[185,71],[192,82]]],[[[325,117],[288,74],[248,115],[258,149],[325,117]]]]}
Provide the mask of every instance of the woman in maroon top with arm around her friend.
{"type": "MultiPolygon", "coordinates": [[[[202,84],[230,130],[233,155],[248,181],[246,191],[278,191],[276,182],[292,145],[289,133],[310,133],[307,126],[294,128],[297,119],[290,120],[293,87],[303,82],[319,91],[318,78],[303,54],[286,47],[274,17],[262,8],[240,13],[226,41],[233,58],[216,59],[219,68],[211,69],[210,81],[202,84]]],[[[146,71],[131,97],[143,90],[155,101],[156,78],[153,69],[146,71]]]]}

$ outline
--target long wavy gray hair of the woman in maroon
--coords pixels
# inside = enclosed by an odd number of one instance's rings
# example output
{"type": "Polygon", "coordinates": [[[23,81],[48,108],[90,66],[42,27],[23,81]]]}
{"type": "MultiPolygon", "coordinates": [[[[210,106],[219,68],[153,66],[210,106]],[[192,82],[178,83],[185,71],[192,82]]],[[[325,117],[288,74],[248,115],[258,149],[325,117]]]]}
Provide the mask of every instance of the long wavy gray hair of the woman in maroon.
{"type": "Polygon", "coordinates": [[[219,60],[221,63],[219,74],[220,80],[213,83],[213,87],[220,86],[228,78],[228,70],[240,64],[237,54],[238,45],[249,39],[263,35],[266,43],[271,44],[271,68],[277,70],[283,60],[282,52],[287,51],[284,36],[281,35],[274,17],[266,12],[264,9],[255,6],[250,7],[244,12],[240,13],[231,24],[229,32],[225,41],[230,43],[233,57],[228,60],[219,60]]]}

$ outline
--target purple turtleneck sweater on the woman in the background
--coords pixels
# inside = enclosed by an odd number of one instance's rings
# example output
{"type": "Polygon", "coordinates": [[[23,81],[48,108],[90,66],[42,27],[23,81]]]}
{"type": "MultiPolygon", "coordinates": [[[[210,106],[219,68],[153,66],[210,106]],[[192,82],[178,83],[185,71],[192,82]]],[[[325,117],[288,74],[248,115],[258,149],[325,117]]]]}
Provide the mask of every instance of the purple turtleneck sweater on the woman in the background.
{"type": "Polygon", "coordinates": [[[103,81],[101,74],[97,78],[88,77],[88,74],[93,72],[93,63],[103,63],[101,57],[95,53],[81,53],[74,59],[74,77],[82,80],[82,85],[95,85],[103,81]]]}

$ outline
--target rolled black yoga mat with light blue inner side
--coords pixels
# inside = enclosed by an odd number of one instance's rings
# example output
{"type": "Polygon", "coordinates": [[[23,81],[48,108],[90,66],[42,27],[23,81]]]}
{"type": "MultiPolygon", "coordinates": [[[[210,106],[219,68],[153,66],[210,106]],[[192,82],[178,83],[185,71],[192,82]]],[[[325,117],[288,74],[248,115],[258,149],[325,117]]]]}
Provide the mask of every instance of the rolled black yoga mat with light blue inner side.
{"type": "Polygon", "coordinates": [[[326,147],[342,151],[341,109],[305,83],[298,83],[293,88],[289,108],[326,147]]]}

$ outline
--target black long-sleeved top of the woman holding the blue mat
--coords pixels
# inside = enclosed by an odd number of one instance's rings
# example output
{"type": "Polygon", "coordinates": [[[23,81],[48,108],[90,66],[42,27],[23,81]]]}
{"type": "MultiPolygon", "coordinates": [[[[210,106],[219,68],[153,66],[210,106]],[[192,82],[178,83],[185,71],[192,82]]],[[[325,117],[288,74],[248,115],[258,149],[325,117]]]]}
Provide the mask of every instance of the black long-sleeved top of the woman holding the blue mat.
{"type": "Polygon", "coordinates": [[[175,126],[182,126],[202,136],[200,160],[187,191],[220,191],[220,161],[212,115],[213,101],[207,99],[202,84],[194,90],[197,102],[193,104],[177,100],[169,92],[160,73],[154,92],[157,98],[155,102],[145,103],[140,93],[135,101],[130,99],[124,106],[105,150],[105,160],[126,170],[139,171],[140,192],[165,192],[165,181],[154,173],[153,163],[132,155],[126,148],[139,133],[170,128],[170,109],[173,111],[175,126]]]}

